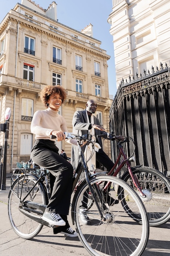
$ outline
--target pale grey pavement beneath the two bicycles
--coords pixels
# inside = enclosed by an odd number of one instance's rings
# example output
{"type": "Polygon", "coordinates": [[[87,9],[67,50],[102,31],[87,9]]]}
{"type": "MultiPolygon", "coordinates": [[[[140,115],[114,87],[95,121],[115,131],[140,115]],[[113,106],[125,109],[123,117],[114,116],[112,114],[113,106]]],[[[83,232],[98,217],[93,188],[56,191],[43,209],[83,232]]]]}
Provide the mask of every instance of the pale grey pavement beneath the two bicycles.
{"type": "MultiPolygon", "coordinates": [[[[49,227],[43,227],[40,234],[31,240],[18,237],[8,219],[9,188],[10,177],[7,177],[6,190],[0,190],[1,256],[89,256],[78,238],[69,238],[63,234],[53,235],[53,230],[49,227]]],[[[69,223],[72,223],[71,220],[69,223]]],[[[170,221],[160,227],[150,227],[148,245],[142,256],[170,256],[170,221]]]]}

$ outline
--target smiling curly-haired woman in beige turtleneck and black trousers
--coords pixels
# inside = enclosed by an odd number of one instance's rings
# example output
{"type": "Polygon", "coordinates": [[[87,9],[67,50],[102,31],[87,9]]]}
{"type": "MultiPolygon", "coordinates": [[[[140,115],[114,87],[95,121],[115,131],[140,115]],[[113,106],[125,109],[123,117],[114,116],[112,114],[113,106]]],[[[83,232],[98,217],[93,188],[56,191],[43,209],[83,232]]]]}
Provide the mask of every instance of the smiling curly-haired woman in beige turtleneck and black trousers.
{"type": "MultiPolygon", "coordinates": [[[[52,193],[42,219],[51,225],[59,226],[53,229],[54,234],[61,232],[70,237],[77,237],[77,233],[70,227],[67,220],[73,167],[60,156],[55,146],[55,139],[50,138],[51,135],[55,135],[57,141],[65,140],[64,132],[68,132],[66,121],[58,113],[65,99],[66,92],[60,86],[47,85],[42,90],[41,100],[46,109],[38,110],[33,115],[31,132],[35,134],[35,143],[31,151],[31,159],[50,172],[52,193]]],[[[66,141],[77,144],[74,139],[66,141]]]]}

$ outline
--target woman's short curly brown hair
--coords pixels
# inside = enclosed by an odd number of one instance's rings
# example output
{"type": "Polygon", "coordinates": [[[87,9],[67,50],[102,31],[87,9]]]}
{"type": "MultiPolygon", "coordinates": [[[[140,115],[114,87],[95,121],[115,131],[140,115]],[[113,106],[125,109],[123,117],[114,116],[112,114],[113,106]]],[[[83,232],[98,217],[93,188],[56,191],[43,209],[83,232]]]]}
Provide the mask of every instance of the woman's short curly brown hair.
{"type": "Polygon", "coordinates": [[[66,90],[64,88],[62,88],[60,85],[46,85],[42,91],[41,91],[41,101],[42,103],[44,103],[44,106],[46,106],[47,101],[49,100],[49,97],[52,94],[59,94],[62,98],[62,103],[65,101],[66,99],[66,90]]]}

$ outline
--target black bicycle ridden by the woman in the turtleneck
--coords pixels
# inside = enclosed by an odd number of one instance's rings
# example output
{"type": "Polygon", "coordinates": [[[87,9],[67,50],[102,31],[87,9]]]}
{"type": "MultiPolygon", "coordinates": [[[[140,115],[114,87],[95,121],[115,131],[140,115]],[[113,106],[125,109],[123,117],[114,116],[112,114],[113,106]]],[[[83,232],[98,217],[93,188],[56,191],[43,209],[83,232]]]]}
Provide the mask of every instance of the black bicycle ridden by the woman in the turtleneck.
{"type": "MultiPolygon", "coordinates": [[[[66,136],[69,137],[68,135],[66,136]]],[[[82,171],[85,180],[79,183],[73,195],[71,216],[80,241],[91,255],[139,256],[146,248],[149,237],[148,216],[139,195],[126,182],[104,173],[91,175],[81,150],[82,141],[92,143],[91,137],[73,136],[77,140],[81,162],[73,176],[73,191],[82,171]],[[88,209],[91,225],[81,220],[82,201],[86,191],[93,205],[88,209]],[[110,204],[113,198],[118,204],[110,204]],[[89,197],[90,195],[90,197],[89,197]],[[130,215],[135,212],[135,216],[130,215]],[[136,216],[140,216],[138,225],[136,216]]],[[[115,137],[122,139],[122,137],[115,137]]],[[[8,212],[13,230],[18,236],[30,239],[37,235],[43,225],[53,227],[42,220],[51,196],[46,169],[40,177],[25,172],[12,184],[9,192],[8,212]]],[[[137,217],[139,218],[139,217],[137,217]]]]}

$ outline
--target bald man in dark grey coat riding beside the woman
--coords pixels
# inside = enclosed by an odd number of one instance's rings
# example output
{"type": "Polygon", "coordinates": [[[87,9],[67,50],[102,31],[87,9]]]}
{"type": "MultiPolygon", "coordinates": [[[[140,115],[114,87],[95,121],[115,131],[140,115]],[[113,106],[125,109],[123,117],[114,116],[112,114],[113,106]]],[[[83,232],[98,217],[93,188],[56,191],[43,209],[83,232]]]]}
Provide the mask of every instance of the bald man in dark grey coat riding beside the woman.
{"type": "MultiPolygon", "coordinates": [[[[101,133],[105,133],[105,129],[101,126],[99,119],[95,117],[93,114],[95,114],[97,109],[97,103],[96,101],[90,99],[86,103],[86,109],[81,111],[76,111],[73,116],[73,133],[78,134],[80,136],[90,133],[91,135],[95,135],[96,137],[96,151],[95,151],[95,157],[96,160],[102,164],[107,171],[110,171],[113,167],[114,163],[110,160],[108,155],[103,151],[102,149],[102,139],[101,137],[97,138],[97,135],[100,135],[101,133]]],[[[82,151],[85,152],[87,149],[86,144],[82,146],[82,151]]],[[[86,156],[86,154],[84,153],[86,156]]],[[[88,159],[87,159],[88,160],[88,159]]],[[[78,147],[75,145],[72,145],[71,149],[71,164],[73,165],[73,169],[76,169],[79,163],[79,151],[78,147]]],[[[88,163],[87,163],[88,164],[88,163]]],[[[95,163],[94,163],[95,164],[95,163]]],[[[89,168],[89,166],[88,166],[89,168]]],[[[91,169],[90,169],[91,170],[91,169]]],[[[84,196],[85,198],[85,196],[84,196]]],[[[87,198],[87,196],[86,196],[87,198]]],[[[110,204],[116,204],[117,200],[114,200],[109,195],[107,195],[107,201],[109,200],[110,204]]],[[[84,204],[85,199],[82,202],[82,208],[86,208],[86,202],[84,204]]],[[[81,219],[84,222],[84,224],[89,223],[89,218],[87,216],[87,213],[85,210],[82,211],[81,219]]]]}

